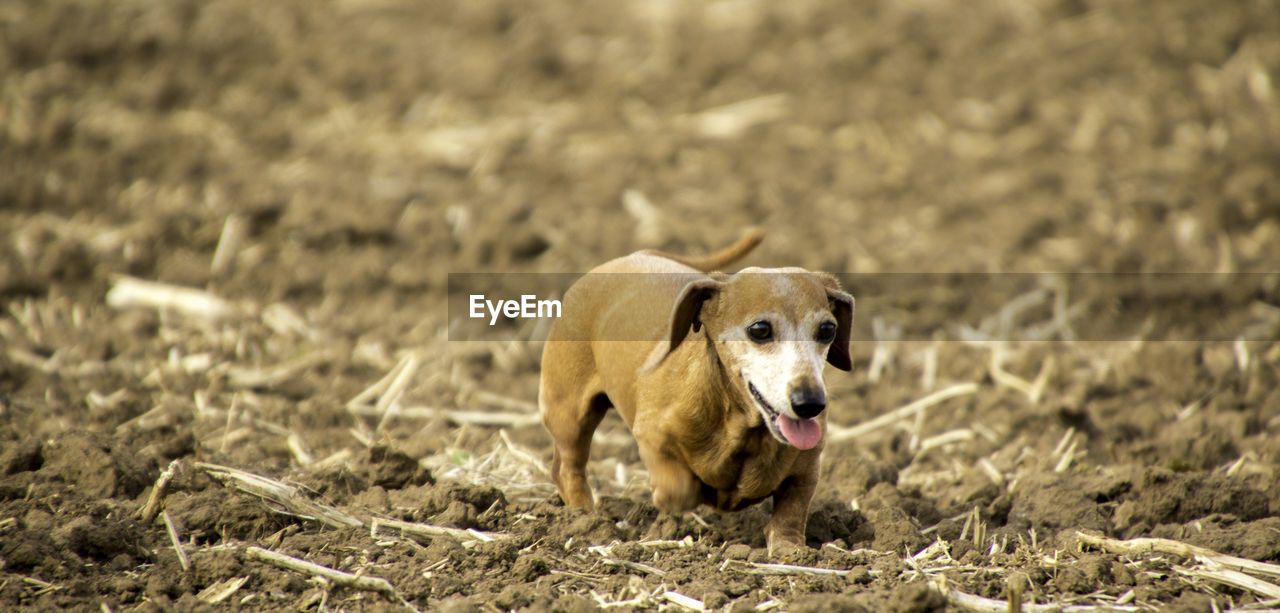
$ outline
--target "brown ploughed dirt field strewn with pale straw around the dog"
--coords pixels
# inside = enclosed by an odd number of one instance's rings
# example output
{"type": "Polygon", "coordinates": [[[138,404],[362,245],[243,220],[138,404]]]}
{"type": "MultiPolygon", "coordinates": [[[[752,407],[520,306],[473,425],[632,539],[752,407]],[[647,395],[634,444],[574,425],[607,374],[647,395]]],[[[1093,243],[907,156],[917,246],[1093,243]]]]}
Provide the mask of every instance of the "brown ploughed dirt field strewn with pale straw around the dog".
{"type": "Polygon", "coordinates": [[[0,3],[0,609],[1275,610],[1277,67],[1267,0],[0,3]],[[868,279],[812,549],[616,416],[563,507],[447,274],[750,225],[868,279]]]}

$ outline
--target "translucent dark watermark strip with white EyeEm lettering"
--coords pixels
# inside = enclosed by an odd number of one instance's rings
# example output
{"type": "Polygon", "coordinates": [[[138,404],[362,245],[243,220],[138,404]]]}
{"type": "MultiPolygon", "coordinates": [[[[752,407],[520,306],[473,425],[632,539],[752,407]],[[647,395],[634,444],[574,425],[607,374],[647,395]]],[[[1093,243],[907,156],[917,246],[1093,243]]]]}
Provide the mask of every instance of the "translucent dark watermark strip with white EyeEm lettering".
{"type": "MultiPolygon", "coordinates": [[[[672,296],[564,296],[591,273],[449,273],[449,340],[539,340],[582,305],[669,312],[672,296]],[[563,306],[562,306],[563,302],[563,306]]],[[[650,273],[602,273],[614,287],[650,273]]],[[[689,282],[701,273],[678,273],[689,282]]],[[[739,273],[750,274],[750,273],[739,273]]],[[[1276,340],[1280,271],[837,273],[858,299],[852,342],[1276,340]]],[[[716,299],[735,299],[726,292],[716,299]]],[[[575,340],[652,340],[635,326],[575,328],[575,340]]],[[[561,338],[564,338],[562,334],[561,338]]]]}

